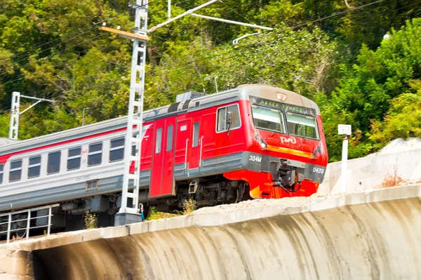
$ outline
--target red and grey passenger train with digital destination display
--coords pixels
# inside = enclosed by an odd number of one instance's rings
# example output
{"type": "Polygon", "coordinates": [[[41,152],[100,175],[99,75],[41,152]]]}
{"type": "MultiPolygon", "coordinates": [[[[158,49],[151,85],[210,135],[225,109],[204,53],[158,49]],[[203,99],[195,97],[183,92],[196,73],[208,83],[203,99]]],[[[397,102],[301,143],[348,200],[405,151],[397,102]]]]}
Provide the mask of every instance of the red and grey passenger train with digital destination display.
{"type": "MultiPolygon", "coordinates": [[[[161,211],[189,197],[201,207],[309,196],[328,164],[319,107],[281,88],[185,93],[143,119],[139,201],[161,211]]],[[[0,211],[59,203],[63,217],[112,217],[125,130],[122,117],[0,147],[0,211]]]]}

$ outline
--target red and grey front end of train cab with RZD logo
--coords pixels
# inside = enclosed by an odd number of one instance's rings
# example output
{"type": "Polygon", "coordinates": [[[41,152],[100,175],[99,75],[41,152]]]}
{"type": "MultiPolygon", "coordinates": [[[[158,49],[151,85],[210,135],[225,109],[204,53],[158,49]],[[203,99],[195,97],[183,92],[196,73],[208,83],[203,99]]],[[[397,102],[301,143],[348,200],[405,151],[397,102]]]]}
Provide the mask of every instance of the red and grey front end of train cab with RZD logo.
{"type": "Polygon", "coordinates": [[[326,172],[328,154],[319,108],[301,95],[279,90],[272,88],[260,96],[250,93],[252,141],[243,154],[244,168],[225,174],[237,179],[241,174],[253,198],[310,196],[326,172]]]}

